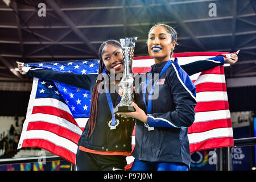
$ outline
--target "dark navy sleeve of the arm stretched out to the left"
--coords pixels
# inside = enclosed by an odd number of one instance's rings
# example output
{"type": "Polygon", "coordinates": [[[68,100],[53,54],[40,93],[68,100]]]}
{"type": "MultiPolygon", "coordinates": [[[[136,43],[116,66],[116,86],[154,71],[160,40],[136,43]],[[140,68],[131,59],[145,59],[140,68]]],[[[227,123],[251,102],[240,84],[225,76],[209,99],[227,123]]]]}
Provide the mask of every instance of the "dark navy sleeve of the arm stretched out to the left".
{"type": "Polygon", "coordinates": [[[98,74],[79,75],[68,72],[56,72],[48,69],[30,69],[27,72],[27,75],[46,78],[53,81],[61,81],[65,84],[77,86],[86,90],[90,90],[91,85],[96,82],[98,76],[98,74]]]}

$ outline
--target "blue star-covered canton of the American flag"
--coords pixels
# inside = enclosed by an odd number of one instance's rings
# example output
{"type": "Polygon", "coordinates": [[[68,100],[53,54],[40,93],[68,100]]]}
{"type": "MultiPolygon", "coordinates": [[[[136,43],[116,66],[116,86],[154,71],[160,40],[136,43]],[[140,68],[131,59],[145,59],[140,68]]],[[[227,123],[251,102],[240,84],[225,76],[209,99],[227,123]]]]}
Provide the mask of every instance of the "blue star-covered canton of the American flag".
{"type": "MultiPolygon", "coordinates": [[[[72,60],[28,63],[24,64],[24,66],[86,75],[88,73],[97,73],[98,63],[99,60],[72,60]]],[[[89,117],[90,115],[90,91],[84,88],[77,88],[63,82],[39,78],[36,98],[56,98],[61,102],[65,102],[74,118],[89,117]]]]}

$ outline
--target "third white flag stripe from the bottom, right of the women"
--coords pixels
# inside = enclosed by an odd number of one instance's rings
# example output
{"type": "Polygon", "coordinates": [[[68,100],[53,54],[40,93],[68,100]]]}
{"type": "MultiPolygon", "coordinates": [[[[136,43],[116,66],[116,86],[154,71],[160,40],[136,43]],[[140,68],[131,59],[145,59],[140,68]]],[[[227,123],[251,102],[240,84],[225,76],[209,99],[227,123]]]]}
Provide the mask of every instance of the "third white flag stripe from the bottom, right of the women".
{"type": "Polygon", "coordinates": [[[222,91],[196,93],[197,102],[228,101],[228,94],[222,91]]]}

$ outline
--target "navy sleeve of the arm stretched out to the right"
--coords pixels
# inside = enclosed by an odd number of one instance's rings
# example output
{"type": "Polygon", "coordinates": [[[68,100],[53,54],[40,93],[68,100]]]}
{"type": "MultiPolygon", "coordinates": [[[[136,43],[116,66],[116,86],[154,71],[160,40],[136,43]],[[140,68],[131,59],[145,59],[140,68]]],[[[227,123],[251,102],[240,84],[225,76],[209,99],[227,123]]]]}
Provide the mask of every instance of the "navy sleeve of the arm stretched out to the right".
{"type": "Polygon", "coordinates": [[[194,75],[195,73],[203,72],[214,67],[224,65],[223,56],[210,57],[205,60],[195,61],[193,63],[184,64],[180,67],[184,69],[189,76],[194,75]]]}

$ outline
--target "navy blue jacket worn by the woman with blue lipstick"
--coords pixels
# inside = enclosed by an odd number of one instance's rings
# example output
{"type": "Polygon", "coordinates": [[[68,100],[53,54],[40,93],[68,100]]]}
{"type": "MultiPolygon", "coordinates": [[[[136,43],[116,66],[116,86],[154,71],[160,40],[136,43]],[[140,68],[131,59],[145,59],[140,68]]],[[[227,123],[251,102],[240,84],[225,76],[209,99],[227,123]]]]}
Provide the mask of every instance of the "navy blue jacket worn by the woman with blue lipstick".
{"type": "MultiPolygon", "coordinates": [[[[222,56],[214,57],[214,60],[224,64],[222,56]]],[[[167,61],[152,65],[152,73],[159,74],[166,63],[167,61]]],[[[193,73],[195,68],[189,68],[186,71],[193,73]]],[[[158,90],[154,92],[159,92],[159,97],[152,100],[152,114],[148,115],[147,125],[138,120],[136,122],[135,148],[132,155],[139,160],[179,162],[189,167],[190,152],[187,133],[188,127],[195,120],[195,85],[179,66],[177,59],[172,61],[171,66],[159,77],[158,82],[158,90]],[[149,127],[154,127],[154,130],[149,131],[149,127]]],[[[142,88],[143,83],[137,89],[142,90],[142,88]]],[[[135,94],[135,100],[136,104],[146,113],[143,94],[135,94]]],[[[147,102],[148,92],[146,104],[147,102]]]]}

